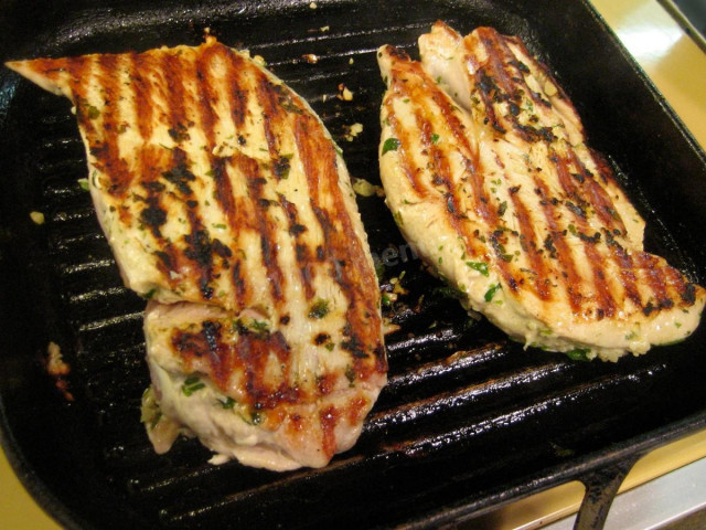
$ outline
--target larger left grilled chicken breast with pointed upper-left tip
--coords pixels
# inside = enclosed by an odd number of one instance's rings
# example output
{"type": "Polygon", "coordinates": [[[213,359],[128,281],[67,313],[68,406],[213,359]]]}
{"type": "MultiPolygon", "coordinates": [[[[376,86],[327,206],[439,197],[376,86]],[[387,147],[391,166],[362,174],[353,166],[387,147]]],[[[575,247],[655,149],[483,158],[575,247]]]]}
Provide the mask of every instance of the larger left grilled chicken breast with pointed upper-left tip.
{"type": "Polygon", "coordinates": [[[386,381],[379,292],[313,110],[212,38],[8,66],[74,103],[98,219],[151,299],[156,448],[188,432],[217,460],[291,469],[351,447],[386,381]]]}

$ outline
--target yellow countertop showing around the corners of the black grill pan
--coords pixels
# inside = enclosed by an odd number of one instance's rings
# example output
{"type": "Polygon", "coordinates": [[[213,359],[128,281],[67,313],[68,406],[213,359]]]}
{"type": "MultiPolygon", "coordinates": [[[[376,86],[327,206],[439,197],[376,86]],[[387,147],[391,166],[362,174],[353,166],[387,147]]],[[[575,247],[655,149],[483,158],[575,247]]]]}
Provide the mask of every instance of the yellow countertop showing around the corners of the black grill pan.
{"type": "MultiPolygon", "coordinates": [[[[696,140],[706,147],[706,54],[656,0],[592,0],[592,3],[696,140]]],[[[703,457],[706,457],[706,432],[645,456],[630,473],[623,489],[703,457]]],[[[485,517],[483,528],[536,528],[542,522],[576,511],[582,491],[581,485],[570,483],[538,494],[485,517]]],[[[9,530],[61,528],[24,490],[2,452],[0,521],[2,528],[9,530]]]]}

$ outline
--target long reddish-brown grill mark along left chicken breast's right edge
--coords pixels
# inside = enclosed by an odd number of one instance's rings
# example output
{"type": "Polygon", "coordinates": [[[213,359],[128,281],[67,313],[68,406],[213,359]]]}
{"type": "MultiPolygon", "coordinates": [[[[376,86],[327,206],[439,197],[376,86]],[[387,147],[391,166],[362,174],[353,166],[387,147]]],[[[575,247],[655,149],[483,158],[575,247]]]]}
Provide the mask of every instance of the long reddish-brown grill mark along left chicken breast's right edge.
{"type": "MultiPolygon", "coordinates": [[[[295,119],[295,140],[301,156],[304,176],[311,197],[311,209],[323,233],[323,255],[330,264],[330,273],[341,286],[349,300],[345,311],[347,321],[345,331],[350,340],[365,344],[371,352],[377,351],[379,337],[379,315],[377,296],[366,293],[366,286],[376,285],[375,272],[367,265],[361,242],[355,233],[346,211],[341,189],[338,184],[338,161],[334,147],[325,138],[322,127],[313,118],[302,115],[295,119]],[[325,197],[327,201],[322,201],[325,197]],[[323,204],[330,204],[324,210],[323,204]],[[334,224],[334,221],[338,222],[334,224]]],[[[319,252],[318,254],[319,255],[319,252]]],[[[353,369],[362,379],[372,371],[385,372],[385,356],[365,357],[351,354],[353,369]]]]}

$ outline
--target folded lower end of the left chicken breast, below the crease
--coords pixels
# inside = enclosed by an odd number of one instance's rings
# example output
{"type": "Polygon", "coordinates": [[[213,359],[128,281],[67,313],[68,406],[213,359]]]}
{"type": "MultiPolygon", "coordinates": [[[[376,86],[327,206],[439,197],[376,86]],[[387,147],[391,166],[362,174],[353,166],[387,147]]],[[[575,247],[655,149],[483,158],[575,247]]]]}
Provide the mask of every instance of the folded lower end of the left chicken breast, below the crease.
{"type": "Polygon", "coordinates": [[[165,416],[148,431],[158,452],[182,425],[217,453],[216,463],[321,467],[351,448],[385,381],[382,346],[373,351],[360,342],[370,333],[346,328],[345,305],[317,304],[280,325],[254,309],[236,317],[215,306],[150,303],[148,364],[165,416]]]}

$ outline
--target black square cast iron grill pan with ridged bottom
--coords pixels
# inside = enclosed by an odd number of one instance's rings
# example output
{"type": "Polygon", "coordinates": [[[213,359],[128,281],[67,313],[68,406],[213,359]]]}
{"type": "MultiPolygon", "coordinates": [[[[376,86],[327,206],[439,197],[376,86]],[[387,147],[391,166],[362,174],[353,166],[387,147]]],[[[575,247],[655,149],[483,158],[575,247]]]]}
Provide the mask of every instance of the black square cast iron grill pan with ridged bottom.
{"type": "MultiPolygon", "coordinates": [[[[12,6],[0,17],[4,59],[197,44],[208,26],[263,55],[339,139],[351,173],[374,183],[384,89],[374,51],[393,43],[416,55],[417,36],[437,19],[463,33],[490,24],[522,36],[556,72],[589,141],[646,218],[648,250],[703,283],[704,153],[584,2],[79,2],[61,13],[12,6]],[[23,32],[32,36],[14,39],[12,21],[35,24],[23,32]],[[317,64],[302,60],[311,53],[317,64]],[[352,102],[335,97],[341,83],[352,102]],[[347,142],[354,123],[364,130],[347,142]]],[[[624,470],[706,423],[703,327],[617,364],[524,351],[466,317],[382,199],[359,198],[372,250],[385,257],[382,287],[404,272],[409,290],[385,309],[400,329],[387,338],[389,384],[359,444],[324,469],[285,474],[211,466],[193,439],[157,456],[139,422],[149,384],[145,301],[122,286],[78,184],[86,163],[69,104],[8,72],[0,81],[3,445],[68,527],[436,528],[624,470]],[[33,225],[31,211],[44,212],[45,224],[33,225]],[[72,367],[73,401],[44,372],[50,340],[72,367]]]]}

